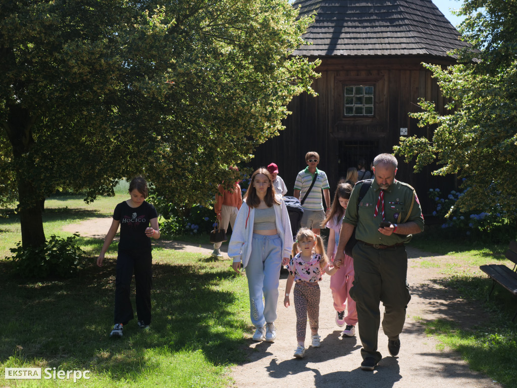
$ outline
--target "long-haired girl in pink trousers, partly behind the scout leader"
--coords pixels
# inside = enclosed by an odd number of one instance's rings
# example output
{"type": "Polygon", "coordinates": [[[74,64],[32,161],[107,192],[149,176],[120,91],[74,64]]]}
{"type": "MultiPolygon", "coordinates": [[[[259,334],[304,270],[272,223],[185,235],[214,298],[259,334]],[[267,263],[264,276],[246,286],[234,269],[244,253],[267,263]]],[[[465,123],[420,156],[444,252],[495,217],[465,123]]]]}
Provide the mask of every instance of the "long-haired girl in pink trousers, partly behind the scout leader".
{"type": "MultiPolygon", "coordinates": [[[[336,250],[339,243],[339,232],[343,217],[345,215],[346,206],[352,193],[352,185],[341,183],[336,189],[334,201],[330,208],[330,213],[323,223],[326,223],[330,229],[327,244],[327,256],[330,260],[334,260],[336,250]]],[[[336,309],[336,323],[339,327],[346,324],[342,335],[353,337],[355,335],[355,325],[357,324],[356,303],[350,297],[350,289],[354,282],[354,259],[345,255],[344,263],[339,270],[330,278],[330,289],[334,299],[334,309],[336,309]],[[347,306],[348,304],[348,306],[347,306]],[[345,309],[347,314],[345,316],[345,309]]]]}

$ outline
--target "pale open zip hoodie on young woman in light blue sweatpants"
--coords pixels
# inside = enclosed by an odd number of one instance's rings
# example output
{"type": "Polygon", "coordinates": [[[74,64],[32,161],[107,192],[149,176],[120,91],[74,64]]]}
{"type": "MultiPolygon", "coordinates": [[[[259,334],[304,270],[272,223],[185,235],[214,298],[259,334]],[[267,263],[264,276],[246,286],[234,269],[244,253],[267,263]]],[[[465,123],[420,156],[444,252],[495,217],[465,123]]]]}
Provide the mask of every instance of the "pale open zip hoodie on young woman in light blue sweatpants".
{"type": "MultiPolygon", "coordinates": [[[[293,233],[291,232],[291,222],[287,207],[281,195],[276,195],[280,205],[273,203],[275,209],[275,223],[277,232],[282,240],[282,258],[290,257],[293,249],[293,233]]],[[[233,262],[242,262],[242,267],[246,268],[251,255],[251,239],[253,237],[253,220],[255,219],[255,208],[249,207],[246,201],[242,202],[228,246],[228,256],[233,258],[233,262]]],[[[280,258],[280,260],[282,259],[280,258]]]]}

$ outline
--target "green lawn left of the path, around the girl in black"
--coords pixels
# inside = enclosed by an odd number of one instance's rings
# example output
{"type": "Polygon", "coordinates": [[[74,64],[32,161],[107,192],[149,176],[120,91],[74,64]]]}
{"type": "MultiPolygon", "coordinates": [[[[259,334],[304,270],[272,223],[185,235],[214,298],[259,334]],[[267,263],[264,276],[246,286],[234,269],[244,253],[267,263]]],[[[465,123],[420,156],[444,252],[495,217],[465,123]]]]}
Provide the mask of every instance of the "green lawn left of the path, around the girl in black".
{"type": "MultiPolygon", "coordinates": [[[[86,205],[79,197],[47,201],[47,236],[67,223],[111,215],[119,198],[86,205]],[[100,204],[100,205],[99,205],[100,204]]],[[[20,240],[19,219],[0,219],[6,249],[20,240]]],[[[228,367],[245,357],[244,333],[251,331],[246,277],[229,261],[157,248],[153,251],[153,321],[142,331],[135,320],[112,340],[116,244],[102,268],[94,265],[102,241],[79,238],[92,266],[74,279],[26,281],[10,276],[0,260],[0,370],[41,367],[90,370],[90,379],[6,380],[11,387],[222,387],[228,367]]],[[[133,300],[134,305],[134,300],[133,300]]],[[[51,369],[53,370],[53,369],[51,369]]]]}

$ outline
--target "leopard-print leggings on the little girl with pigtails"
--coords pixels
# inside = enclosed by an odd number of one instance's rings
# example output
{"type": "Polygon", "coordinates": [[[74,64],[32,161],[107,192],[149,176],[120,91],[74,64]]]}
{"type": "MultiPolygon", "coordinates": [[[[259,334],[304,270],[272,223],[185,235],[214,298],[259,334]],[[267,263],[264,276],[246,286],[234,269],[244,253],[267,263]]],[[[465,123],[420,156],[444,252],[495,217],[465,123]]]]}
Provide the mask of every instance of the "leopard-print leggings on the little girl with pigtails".
{"type": "Polygon", "coordinates": [[[320,318],[320,285],[299,281],[294,285],[294,309],[296,311],[296,338],[305,341],[307,316],[311,332],[316,333],[320,318]]]}

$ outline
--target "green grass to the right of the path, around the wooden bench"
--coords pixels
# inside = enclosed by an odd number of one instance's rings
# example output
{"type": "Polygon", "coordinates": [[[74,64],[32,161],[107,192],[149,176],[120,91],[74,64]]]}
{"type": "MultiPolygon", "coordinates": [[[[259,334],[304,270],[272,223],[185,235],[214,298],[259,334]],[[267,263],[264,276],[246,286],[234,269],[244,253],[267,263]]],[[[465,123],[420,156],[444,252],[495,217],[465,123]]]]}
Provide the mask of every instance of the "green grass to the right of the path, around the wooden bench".
{"type": "MultiPolygon", "coordinates": [[[[428,335],[441,341],[437,349],[445,350],[447,347],[458,351],[470,368],[507,388],[517,388],[517,324],[511,322],[517,303],[513,295],[499,285],[489,297],[493,282],[479,270],[479,265],[491,263],[512,268],[513,263],[504,257],[508,243],[464,242],[436,235],[431,238],[417,235],[411,245],[448,256],[444,264],[446,278],[440,284],[454,288],[462,299],[476,305],[483,318],[479,325],[468,329],[450,320],[418,320],[425,325],[428,335]],[[436,243],[437,238],[439,244],[436,243]]],[[[433,265],[432,258],[429,264],[422,264],[424,267],[429,265],[433,265]]]]}

